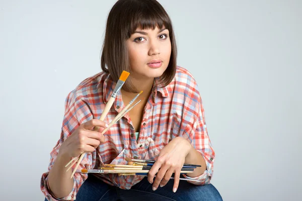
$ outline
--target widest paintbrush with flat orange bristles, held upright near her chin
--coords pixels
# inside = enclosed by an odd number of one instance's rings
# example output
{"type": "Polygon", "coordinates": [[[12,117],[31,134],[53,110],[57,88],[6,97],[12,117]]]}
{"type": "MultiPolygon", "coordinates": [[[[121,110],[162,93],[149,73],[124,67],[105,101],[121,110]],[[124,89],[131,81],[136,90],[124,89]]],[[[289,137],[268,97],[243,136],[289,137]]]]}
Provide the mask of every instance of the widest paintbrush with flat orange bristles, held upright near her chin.
{"type": "MultiPolygon", "coordinates": [[[[113,105],[113,103],[114,103],[114,100],[115,100],[115,97],[116,97],[117,93],[121,90],[123,84],[125,83],[126,79],[127,79],[128,76],[129,76],[129,74],[130,74],[129,72],[123,71],[122,74],[120,75],[119,80],[117,81],[117,83],[116,83],[116,85],[115,85],[115,87],[114,87],[113,93],[111,94],[111,97],[109,98],[109,100],[108,100],[108,102],[107,102],[107,104],[106,104],[106,106],[105,106],[105,109],[104,109],[104,111],[102,112],[102,115],[101,115],[101,117],[100,117],[100,120],[101,120],[101,121],[104,121],[106,115],[108,114],[110,108],[112,107],[112,105],[113,105]]],[[[100,129],[100,127],[96,126],[96,127],[94,128],[94,131],[98,131],[99,129],[100,129]]],[[[75,168],[74,168],[74,170],[73,170],[73,172],[72,172],[70,178],[72,178],[73,175],[74,175],[74,173],[75,173],[75,171],[77,171],[77,169],[78,169],[78,167],[79,167],[81,161],[82,161],[83,158],[84,158],[84,155],[85,155],[85,152],[81,154],[81,156],[80,156],[80,158],[79,158],[79,161],[78,161],[77,165],[75,166],[75,168]]]]}

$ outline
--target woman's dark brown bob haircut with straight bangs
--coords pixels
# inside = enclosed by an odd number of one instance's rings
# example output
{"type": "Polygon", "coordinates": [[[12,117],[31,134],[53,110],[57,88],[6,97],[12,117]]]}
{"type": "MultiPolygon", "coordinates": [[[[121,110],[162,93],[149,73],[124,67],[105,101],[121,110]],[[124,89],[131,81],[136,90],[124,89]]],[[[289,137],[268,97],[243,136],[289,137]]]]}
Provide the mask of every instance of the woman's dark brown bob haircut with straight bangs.
{"type": "MultiPolygon", "coordinates": [[[[137,28],[169,30],[171,56],[167,69],[158,78],[158,86],[167,86],[175,76],[177,47],[172,22],[165,9],[156,0],[119,0],[109,12],[104,43],[102,47],[101,68],[117,82],[122,71],[130,72],[129,54],[126,41],[137,28]]],[[[128,92],[138,92],[129,79],[123,85],[128,92]]]]}

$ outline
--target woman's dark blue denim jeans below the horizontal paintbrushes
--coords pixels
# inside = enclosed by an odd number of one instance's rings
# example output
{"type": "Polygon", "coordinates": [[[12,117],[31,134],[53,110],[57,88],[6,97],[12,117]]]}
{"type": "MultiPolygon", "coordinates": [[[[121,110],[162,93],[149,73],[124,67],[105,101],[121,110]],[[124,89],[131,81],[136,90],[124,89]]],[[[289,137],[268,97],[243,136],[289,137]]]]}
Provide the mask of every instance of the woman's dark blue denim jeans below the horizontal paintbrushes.
{"type": "MultiPolygon", "coordinates": [[[[77,200],[84,201],[147,201],[147,200],[222,200],[219,192],[212,184],[193,185],[180,180],[176,192],[173,192],[174,179],[163,186],[152,190],[152,184],[143,178],[129,190],[111,186],[93,175],[89,175],[77,193],[77,200]]],[[[46,201],[47,199],[45,199],[46,201]]]]}

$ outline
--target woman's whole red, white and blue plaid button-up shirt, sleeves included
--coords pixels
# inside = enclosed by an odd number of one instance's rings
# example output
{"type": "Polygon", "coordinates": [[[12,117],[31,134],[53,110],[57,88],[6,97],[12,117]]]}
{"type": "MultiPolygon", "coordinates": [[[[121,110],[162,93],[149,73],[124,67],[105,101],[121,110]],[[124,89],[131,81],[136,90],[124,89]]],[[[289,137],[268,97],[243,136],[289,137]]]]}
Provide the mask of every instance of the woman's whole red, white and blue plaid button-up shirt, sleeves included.
{"type": "MultiPolygon", "coordinates": [[[[109,79],[108,74],[100,72],[82,81],[66,97],[60,139],[50,153],[48,171],[41,177],[41,190],[48,200],[76,198],[79,188],[88,177],[87,174],[75,173],[71,192],[59,199],[54,197],[47,187],[48,172],[64,140],[80,124],[100,118],[114,87],[115,82],[109,79]]],[[[104,121],[109,124],[124,107],[119,92],[104,121]]],[[[210,183],[215,153],[207,133],[197,83],[182,67],[177,67],[174,79],[166,87],[157,87],[157,79],[155,79],[152,94],[144,109],[137,142],[129,114],[114,124],[104,136],[105,143],[94,152],[87,153],[79,169],[96,169],[103,163],[127,164],[126,157],[156,160],[165,145],[175,137],[182,136],[200,152],[206,163],[205,172],[194,177],[200,182],[188,182],[196,185],[210,183]]],[[[143,176],[118,176],[117,174],[97,174],[97,176],[104,182],[123,189],[130,189],[143,178],[143,176]]],[[[192,178],[186,175],[185,177],[192,178]]]]}

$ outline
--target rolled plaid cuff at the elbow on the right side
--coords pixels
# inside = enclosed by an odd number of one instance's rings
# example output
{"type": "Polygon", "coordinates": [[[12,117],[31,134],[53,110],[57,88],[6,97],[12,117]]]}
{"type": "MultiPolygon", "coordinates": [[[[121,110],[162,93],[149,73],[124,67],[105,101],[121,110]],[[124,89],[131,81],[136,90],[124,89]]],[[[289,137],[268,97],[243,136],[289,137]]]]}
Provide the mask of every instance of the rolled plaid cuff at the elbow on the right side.
{"type": "Polygon", "coordinates": [[[195,185],[205,185],[205,184],[210,184],[210,180],[212,178],[213,175],[213,163],[215,160],[215,156],[208,154],[208,153],[202,153],[199,150],[197,150],[204,158],[205,164],[206,164],[206,170],[199,176],[196,177],[190,177],[187,175],[183,175],[185,178],[188,179],[194,179],[194,180],[198,180],[198,181],[188,181],[192,184],[195,185]]]}

